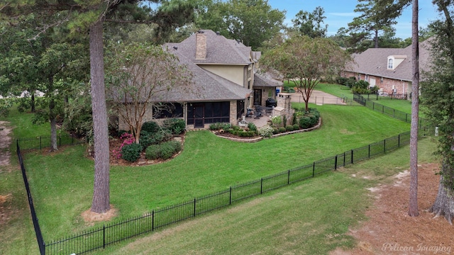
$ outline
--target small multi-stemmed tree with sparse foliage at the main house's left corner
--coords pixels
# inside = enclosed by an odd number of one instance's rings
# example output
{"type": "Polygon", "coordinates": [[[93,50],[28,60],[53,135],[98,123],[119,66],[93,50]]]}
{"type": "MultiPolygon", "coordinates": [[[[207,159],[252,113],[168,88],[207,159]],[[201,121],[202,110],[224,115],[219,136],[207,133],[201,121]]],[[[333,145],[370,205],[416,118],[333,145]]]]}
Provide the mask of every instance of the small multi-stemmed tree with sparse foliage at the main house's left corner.
{"type": "Polygon", "coordinates": [[[175,55],[159,46],[117,45],[112,52],[107,67],[109,97],[139,143],[145,113],[157,109],[172,89],[185,90],[192,76],[175,55]]]}

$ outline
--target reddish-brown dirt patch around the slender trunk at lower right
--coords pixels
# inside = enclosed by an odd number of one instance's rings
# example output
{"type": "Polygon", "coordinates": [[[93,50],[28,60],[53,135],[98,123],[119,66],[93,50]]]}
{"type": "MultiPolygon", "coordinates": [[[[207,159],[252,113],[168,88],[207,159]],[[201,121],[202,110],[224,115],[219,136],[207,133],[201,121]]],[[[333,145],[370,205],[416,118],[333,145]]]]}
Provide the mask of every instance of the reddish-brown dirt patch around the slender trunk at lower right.
{"type": "Polygon", "coordinates": [[[390,185],[372,188],[375,203],[366,212],[370,220],[350,229],[355,249],[336,249],[339,254],[454,254],[454,227],[444,217],[433,218],[433,204],[440,176],[438,164],[424,164],[418,171],[419,217],[409,217],[409,171],[394,176],[390,185]]]}

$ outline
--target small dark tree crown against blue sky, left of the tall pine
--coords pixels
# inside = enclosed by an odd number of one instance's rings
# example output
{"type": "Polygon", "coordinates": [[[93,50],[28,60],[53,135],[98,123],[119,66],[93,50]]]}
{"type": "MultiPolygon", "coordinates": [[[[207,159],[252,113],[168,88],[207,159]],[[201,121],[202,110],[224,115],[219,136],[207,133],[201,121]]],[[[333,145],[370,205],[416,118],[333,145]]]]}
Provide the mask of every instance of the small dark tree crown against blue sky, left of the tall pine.
{"type": "Polygon", "coordinates": [[[328,25],[323,27],[326,16],[323,16],[325,10],[317,6],[311,13],[309,11],[299,11],[292,23],[301,35],[308,35],[310,38],[326,37],[328,25]]]}

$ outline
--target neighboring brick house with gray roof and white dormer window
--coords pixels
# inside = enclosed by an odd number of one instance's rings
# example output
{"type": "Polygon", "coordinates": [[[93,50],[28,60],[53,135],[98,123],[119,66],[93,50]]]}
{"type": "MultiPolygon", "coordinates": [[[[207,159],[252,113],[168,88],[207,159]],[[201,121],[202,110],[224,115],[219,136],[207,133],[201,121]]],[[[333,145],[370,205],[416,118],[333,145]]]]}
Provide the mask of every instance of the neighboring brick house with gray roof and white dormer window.
{"type": "MultiPolygon", "coordinates": [[[[430,40],[430,39],[429,39],[430,40]]],[[[429,62],[429,40],[419,44],[419,70],[427,69],[429,62]]],[[[411,45],[405,48],[370,48],[353,55],[343,77],[365,80],[370,86],[377,86],[381,94],[395,94],[411,98],[411,45]]]]}

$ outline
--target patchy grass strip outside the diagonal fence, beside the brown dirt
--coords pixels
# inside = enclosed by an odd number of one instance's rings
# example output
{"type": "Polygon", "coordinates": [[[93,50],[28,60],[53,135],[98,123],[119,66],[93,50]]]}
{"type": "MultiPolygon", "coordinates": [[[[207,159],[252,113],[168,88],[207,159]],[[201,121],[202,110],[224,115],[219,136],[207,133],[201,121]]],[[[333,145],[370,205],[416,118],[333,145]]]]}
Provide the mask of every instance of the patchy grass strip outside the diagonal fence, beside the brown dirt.
{"type": "MultiPolygon", "coordinates": [[[[419,162],[435,162],[433,149],[433,140],[421,140],[419,162]]],[[[389,176],[406,169],[408,146],[97,254],[328,254],[339,246],[348,249],[355,246],[348,229],[367,220],[365,210],[372,204],[365,188],[391,183],[389,176]]]]}

